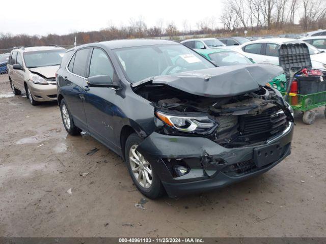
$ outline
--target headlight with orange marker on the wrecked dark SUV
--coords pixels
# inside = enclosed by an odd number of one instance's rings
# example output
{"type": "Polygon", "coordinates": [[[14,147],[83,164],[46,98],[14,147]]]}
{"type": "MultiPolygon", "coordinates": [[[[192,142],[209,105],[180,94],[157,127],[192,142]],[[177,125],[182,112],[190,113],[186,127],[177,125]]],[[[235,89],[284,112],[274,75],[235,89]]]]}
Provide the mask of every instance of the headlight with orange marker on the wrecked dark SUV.
{"type": "Polygon", "coordinates": [[[194,134],[210,134],[219,126],[216,121],[208,116],[177,116],[157,111],[155,114],[172,129],[172,133],[177,130],[194,134]]]}

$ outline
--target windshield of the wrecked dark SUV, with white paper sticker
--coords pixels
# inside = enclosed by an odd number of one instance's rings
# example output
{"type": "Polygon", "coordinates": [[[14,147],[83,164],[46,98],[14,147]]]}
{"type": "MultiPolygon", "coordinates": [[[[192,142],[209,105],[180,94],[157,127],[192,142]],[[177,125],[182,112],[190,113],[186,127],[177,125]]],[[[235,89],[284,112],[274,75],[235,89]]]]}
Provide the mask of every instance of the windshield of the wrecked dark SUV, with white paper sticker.
{"type": "Polygon", "coordinates": [[[131,83],[157,75],[215,67],[198,53],[180,44],[119,48],[114,52],[131,83]]]}

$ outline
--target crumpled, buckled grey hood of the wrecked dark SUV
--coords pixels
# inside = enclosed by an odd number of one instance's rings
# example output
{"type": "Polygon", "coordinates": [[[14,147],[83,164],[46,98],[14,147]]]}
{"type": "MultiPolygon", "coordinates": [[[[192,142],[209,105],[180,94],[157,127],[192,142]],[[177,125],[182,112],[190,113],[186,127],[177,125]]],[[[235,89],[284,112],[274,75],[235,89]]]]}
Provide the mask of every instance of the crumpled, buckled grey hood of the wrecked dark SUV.
{"type": "Polygon", "coordinates": [[[139,85],[166,84],[189,94],[204,97],[231,97],[252,92],[283,74],[276,65],[237,65],[154,76],[133,83],[139,85]]]}

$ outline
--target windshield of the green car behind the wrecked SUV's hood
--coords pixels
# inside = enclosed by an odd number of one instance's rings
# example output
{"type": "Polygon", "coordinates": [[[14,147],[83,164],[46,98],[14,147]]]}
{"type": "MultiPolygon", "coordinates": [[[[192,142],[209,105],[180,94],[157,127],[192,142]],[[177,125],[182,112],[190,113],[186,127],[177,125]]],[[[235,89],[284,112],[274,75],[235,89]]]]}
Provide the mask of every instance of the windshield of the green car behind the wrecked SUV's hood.
{"type": "Polygon", "coordinates": [[[229,66],[229,65],[251,65],[253,64],[250,59],[242,54],[234,51],[226,52],[214,52],[208,54],[218,66],[229,66]]]}

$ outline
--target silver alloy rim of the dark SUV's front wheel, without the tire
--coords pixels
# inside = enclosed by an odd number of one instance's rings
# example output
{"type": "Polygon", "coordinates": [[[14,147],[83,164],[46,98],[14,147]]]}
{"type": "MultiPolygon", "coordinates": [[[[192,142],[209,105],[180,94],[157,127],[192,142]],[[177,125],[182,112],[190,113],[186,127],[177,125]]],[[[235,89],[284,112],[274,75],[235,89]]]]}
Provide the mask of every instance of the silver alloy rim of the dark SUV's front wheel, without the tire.
{"type": "Polygon", "coordinates": [[[150,163],[142,154],[136,151],[138,145],[132,145],[129,150],[129,163],[138,184],[148,189],[152,185],[153,175],[150,163]]]}

